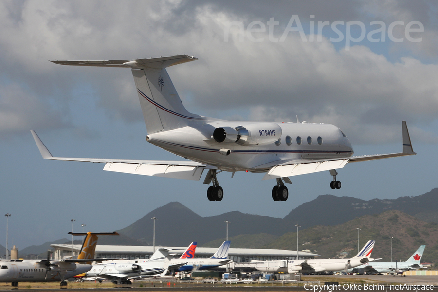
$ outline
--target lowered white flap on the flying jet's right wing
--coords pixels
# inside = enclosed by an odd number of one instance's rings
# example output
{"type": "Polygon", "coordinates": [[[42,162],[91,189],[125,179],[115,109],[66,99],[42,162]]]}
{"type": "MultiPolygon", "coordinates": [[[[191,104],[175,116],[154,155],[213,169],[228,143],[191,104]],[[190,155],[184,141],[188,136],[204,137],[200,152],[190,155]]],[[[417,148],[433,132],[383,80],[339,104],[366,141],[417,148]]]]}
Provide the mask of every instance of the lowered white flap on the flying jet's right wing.
{"type": "Polygon", "coordinates": [[[341,159],[341,160],[320,161],[320,162],[311,162],[311,163],[278,165],[272,167],[265,174],[263,180],[284,178],[289,176],[343,168],[347,163],[348,163],[348,159],[341,159]]]}

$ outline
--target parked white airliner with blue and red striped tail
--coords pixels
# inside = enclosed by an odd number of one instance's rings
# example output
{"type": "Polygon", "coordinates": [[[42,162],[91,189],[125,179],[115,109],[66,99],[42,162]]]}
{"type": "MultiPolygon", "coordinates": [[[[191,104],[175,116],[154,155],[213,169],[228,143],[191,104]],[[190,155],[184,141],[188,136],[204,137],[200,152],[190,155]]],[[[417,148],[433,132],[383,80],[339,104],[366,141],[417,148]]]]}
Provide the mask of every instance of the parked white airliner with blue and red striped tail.
{"type": "Polygon", "coordinates": [[[362,250],[352,258],[331,258],[331,259],[306,259],[306,260],[271,260],[257,263],[254,266],[263,272],[284,272],[284,273],[315,273],[326,271],[340,271],[357,267],[369,261],[374,247],[374,240],[368,241],[362,250]]]}

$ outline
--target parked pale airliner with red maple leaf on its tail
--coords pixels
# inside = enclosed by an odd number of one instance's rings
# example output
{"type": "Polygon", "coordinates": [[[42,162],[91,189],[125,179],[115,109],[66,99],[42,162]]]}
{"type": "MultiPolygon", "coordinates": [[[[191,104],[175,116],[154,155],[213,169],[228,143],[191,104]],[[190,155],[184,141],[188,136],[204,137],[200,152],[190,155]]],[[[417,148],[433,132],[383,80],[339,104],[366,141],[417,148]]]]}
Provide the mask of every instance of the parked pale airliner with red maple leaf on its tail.
{"type": "MultiPolygon", "coordinates": [[[[425,269],[420,264],[421,257],[423,256],[425,245],[420,245],[418,250],[404,262],[372,262],[357,266],[356,269],[364,269],[365,272],[376,272],[376,273],[392,273],[394,276],[396,274],[402,275],[404,271],[425,269]]],[[[349,271],[353,271],[352,269],[349,271]]],[[[406,275],[404,275],[406,276],[406,275]]]]}

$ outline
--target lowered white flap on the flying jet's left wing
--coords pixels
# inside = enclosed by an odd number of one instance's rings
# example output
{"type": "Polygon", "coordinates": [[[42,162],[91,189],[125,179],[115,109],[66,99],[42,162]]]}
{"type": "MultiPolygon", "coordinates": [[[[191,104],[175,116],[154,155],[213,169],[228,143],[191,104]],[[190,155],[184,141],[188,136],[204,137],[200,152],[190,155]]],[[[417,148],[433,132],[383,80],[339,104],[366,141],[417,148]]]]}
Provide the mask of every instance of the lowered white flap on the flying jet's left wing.
{"type": "Polygon", "coordinates": [[[147,176],[158,176],[184,180],[199,181],[204,171],[202,166],[135,164],[124,162],[108,162],[103,170],[147,176]]]}

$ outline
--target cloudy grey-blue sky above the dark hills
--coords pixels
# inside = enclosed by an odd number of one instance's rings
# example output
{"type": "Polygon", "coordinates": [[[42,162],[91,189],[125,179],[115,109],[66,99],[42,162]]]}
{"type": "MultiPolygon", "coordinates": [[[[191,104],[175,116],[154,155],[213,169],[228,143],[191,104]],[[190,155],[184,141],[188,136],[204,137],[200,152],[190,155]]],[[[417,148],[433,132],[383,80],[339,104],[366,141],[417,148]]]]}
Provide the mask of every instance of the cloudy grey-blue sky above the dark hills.
{"type": "MultiPolygon", "coordinates": [[[[394,199],[438,187],[437,10],[432,0],[0,1],[0,210],[11,214],[9,247],[69,238],[81,224],[118,230],[174,201],[201,216],[284,217],[324,194],[394,199]],[[331,123],[355,155],[401,152],[405,120],[418,154],[347,164],[340,190],[329,187],[329,172],[292,177],[286,202],[272,200],[275,181],[263,174],[219,174],[224,199],[210,202],[203,179],[41,158],[31,129],[54,156],[178,159],[146,142],[128,69],[48,60],[182,54],[199,60],[168,73],[190,112],[331,123]]],[[[5,246],[6,218],[0,240],[5,246]]]]}

